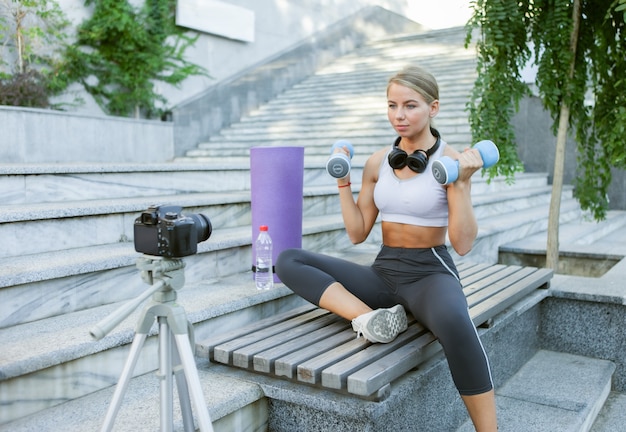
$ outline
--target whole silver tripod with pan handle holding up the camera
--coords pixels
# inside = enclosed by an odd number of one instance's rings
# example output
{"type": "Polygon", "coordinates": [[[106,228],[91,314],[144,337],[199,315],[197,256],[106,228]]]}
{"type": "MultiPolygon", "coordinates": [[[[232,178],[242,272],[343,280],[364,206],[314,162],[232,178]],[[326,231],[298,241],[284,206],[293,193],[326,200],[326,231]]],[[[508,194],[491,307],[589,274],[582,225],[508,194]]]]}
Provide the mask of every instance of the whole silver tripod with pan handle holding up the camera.
{"type": "Polygon", "coordinates": [[[159,326],[159,370],[160,379],[160,417],[161,431],[173,430],[173,381],[176,374],[176,385],[183,424],[186,432],[193,432],[194,422],[189,396],[193,399],[197,411],[200,431],[213,432],[213,425],[202,394],[200,378],[193,356],[193,327],[187,321],[187,314],[182,306],[176,303],[176,290],[185,284],[183,261],[178,258],[160,258],[143,256],[137,260],[137,268],[141,270],[141,278],[151,285],[142,295],[116,310],[113,314],[96,324],[90,331],[96,339],[101,339],[119,324],[126,316],[152,295],[152,300],[144,307],[135,328],[135,337],[124,369],[115,388],[111,404],[106,413],[102,431],[111,431],[115,417],[122,404],[122,399],[133,370],[139,359],[154,320],[159,326]],[[175,344],[173,343],[175,342],[175,344]],[[175,367],[173,365],[176,365],[175,367]]]}

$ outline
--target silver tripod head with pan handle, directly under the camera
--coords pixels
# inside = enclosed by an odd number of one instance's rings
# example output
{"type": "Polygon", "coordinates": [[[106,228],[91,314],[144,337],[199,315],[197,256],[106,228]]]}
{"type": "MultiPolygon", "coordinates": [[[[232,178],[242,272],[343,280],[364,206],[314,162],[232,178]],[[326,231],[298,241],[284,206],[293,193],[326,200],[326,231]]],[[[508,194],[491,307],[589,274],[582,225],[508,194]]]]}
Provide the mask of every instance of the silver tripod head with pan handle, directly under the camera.
{"type": "Polygon", "coordinates": [[[151,287],[92,327],[89,334],[94,339],[102,339],[151,295],[156,303],[172,302],[176,300],[176,290],[185,285],[185,263],[180,258],[143,255],[136,265],[141,279],[151,287]]]}

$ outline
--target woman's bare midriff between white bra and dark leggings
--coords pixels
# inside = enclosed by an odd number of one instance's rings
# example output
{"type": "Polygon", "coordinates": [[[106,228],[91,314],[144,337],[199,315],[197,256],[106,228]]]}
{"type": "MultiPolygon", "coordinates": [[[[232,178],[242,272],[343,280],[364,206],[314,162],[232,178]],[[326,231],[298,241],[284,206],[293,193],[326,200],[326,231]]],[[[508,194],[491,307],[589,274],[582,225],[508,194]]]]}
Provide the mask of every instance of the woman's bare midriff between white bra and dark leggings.
{"type": "Polygon", "coordinates": [[[383,244],[399,248],[431,248],[446,241],[446,227],[423,227],[383,222],[383,244]]]}

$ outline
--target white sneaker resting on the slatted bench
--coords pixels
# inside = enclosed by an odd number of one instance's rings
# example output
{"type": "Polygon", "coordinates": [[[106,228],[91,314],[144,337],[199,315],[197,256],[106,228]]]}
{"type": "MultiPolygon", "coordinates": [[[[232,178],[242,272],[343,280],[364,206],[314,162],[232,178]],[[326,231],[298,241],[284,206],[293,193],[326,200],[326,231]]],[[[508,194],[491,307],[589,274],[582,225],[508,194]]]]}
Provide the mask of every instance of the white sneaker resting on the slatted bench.
{"type": "Polygon", "coordinates": [[[406,313],[401,305],[376,309],[352,320],[356,337],[363,335],[370,342],[389,343],[406,328],[406,313]]]}

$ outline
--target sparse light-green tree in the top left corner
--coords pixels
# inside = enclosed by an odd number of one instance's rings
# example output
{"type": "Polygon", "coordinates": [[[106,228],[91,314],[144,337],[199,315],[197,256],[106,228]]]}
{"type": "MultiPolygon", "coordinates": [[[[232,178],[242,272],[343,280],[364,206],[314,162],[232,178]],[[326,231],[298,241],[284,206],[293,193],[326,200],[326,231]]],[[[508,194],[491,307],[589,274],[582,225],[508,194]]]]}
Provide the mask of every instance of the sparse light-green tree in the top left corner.
{"type": "Polygon", "coordinates": [[[53,0],[0,0],[0,104],[47,108],[67,88],[60,53],[69,24],[53,0]]]}

